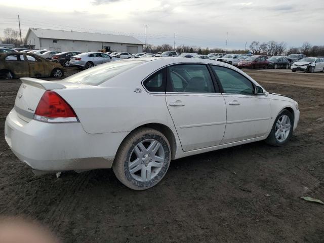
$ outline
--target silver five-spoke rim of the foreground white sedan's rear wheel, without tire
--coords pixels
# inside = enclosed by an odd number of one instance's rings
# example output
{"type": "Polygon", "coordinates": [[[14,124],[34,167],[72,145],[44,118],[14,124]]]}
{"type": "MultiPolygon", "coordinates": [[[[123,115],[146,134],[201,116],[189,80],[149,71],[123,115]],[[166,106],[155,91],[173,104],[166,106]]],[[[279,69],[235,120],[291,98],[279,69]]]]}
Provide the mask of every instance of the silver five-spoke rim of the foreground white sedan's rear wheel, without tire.
{"type": "Polygon", "coordinates": [[[160,172],[164,161],[165,151],[161,143],[155,139],[145,139],[132,150],[128,169],[135,180],[150,181],[160,172]]]}

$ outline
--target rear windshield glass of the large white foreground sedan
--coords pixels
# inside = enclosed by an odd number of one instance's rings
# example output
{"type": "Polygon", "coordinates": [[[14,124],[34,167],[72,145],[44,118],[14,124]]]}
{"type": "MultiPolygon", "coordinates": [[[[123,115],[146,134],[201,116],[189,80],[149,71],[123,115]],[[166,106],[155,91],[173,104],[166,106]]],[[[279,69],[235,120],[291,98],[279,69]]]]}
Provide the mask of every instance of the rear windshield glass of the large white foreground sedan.
{"type": "Polygon", "coordinates": [[[72,76],[64,78],[63,80],[71,83],[97,86],[109,80],[110,78],[133,67],[136,67],[144,62],[147,61],[134,59],[113,61],[89,68],[82,72],[78,72],[72,76]]]}

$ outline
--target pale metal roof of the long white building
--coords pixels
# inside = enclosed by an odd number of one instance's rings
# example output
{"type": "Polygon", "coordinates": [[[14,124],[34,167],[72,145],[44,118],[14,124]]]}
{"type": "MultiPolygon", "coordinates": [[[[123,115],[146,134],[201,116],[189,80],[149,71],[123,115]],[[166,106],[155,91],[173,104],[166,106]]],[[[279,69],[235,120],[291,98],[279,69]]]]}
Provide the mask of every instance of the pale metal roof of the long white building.
{"type": "Polygon", "coordinates": [[[30,31],[32,31],[38,38],[69,39],[71,41],[108,42],[108,43],[144,45],[144,43],[140,42],[138,39],[130,35],[115,35],[115,34],[77,32],[72,30],[68,31],[68,30],[57,30],[57,29],[29,28],[26,38],[28,37],[30,31]]]}

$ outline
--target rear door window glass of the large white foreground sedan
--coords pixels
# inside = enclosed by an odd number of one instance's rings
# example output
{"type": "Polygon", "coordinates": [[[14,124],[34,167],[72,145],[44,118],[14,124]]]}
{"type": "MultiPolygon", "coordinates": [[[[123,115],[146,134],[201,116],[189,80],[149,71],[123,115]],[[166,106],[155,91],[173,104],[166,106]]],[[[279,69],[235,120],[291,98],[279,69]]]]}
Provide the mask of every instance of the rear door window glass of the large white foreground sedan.
{"type": "Polygon", "coordinates": [[[206,65],[179,64],[168,67],[168,92],[214,93],[206,65]]]}

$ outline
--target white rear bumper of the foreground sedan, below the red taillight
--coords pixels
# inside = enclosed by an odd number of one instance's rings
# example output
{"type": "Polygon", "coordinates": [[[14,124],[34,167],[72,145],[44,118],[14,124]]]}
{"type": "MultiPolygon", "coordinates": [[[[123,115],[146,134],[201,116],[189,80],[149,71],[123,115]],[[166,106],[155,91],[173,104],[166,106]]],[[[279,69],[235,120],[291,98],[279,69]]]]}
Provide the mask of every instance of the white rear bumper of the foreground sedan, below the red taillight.
{"type": "Polygon", "coordinates": [[[5,139],[13,153],[41,171],[111,168],[118,146],[127,134],[89,134],[80,123],[27,123],[14,109],[5,123],[5,139]]]}

